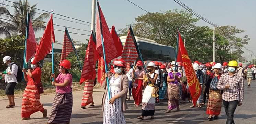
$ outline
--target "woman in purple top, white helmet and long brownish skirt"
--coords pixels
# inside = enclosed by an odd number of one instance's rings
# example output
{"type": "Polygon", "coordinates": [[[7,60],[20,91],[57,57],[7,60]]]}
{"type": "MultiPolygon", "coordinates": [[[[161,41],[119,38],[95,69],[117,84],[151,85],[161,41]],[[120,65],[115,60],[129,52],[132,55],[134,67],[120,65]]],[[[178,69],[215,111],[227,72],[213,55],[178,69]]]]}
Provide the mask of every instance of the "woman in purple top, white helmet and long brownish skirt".
{"type": "Polygon", "coordinates": [[[168,82],[168,110],[165,113],[170,113],[171,110],[177,108],[177,111],[180,110],[179,108],[179,82],[181,78],[180,72],[178,72],[178,66],[175,65],[175,62],[171,62],[172,71],[169,72],[167,77],[168,82]],[[175,76],[174,76],[175,74],[175,76]]]}

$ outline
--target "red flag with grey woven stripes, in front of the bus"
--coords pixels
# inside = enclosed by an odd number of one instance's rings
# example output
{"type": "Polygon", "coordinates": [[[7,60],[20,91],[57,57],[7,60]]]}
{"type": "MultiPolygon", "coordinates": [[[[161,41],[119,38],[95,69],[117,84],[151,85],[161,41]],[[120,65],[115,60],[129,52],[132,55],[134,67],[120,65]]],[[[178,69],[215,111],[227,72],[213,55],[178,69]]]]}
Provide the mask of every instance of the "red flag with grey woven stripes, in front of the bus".
{"type": "Polygon", "coordinates": [[[131,35],[130,29],[131,27],[129,28],[121,55],[121,58],[126,62],[126,72],[130,70],[130,65],[138,58],[138,52],[134,44],[135,41],[131,35]]]}

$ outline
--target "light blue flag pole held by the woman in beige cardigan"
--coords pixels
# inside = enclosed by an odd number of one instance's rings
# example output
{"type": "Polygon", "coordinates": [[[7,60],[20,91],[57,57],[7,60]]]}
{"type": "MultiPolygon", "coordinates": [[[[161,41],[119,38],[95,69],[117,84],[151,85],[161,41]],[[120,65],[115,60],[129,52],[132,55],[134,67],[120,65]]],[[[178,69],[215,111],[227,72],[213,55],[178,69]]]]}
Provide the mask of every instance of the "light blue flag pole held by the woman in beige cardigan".
{"type": "MultiPolygon", "coordinates": [[[[98,5],[98,12],[100,12],[99,1],[97,1],[97,5],[98,5]]],[[[99,14],[99,18],[100,18],[99,21],[100,21],[100,27],[101,27],[101,43],[102,43],[103,59],[104,59],[104,64],[105,64],[105,72],[108,73],[108,67],[107,67],[108,65],[107,65],[107,62],[106,62],[106,55],[105,55],[105,49],[104,49],[104,40],[103,40],[103,34],[102,34],[101,14],[99,14]]],[[[107,81],[109,99],[111,99],[110,90],[109,90],[109,77],[106,77],[106,81],[107,81]]]]}

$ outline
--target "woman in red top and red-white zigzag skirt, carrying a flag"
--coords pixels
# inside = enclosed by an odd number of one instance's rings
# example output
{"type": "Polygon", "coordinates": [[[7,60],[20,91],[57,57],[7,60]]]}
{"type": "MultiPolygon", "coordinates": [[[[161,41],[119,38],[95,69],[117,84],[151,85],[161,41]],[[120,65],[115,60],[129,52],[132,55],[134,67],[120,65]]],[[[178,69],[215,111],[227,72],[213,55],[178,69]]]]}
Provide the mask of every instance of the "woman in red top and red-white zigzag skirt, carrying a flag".
{"type": "MultiPolygon", "coordinates": [[[[31,63],[34,61],[34,58],[31,59],[31,63]]],[[[40,111],[43,113],[43,118],[47,116],[47,110],[43,108],[43,105],[40,103],[40,91],[38,88],[42,88],[41,83],[41,68],[39,67],[40,62],[37,62],[35,65],[31,64],[32,69],[26,70],[23,69],[24,78],[27,81],[27,86],[23,93],[22,106],[21,106],[21,120],[30,119],[30,115],[40,111]]]]}

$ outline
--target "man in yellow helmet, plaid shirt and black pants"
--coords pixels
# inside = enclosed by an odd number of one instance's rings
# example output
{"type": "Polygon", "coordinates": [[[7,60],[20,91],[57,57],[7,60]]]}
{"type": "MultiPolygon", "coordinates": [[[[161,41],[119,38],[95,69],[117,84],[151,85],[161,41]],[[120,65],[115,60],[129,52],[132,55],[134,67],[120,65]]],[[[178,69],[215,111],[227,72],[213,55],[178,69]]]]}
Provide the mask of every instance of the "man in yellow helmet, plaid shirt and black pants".
{"type": "Polygon", "coordinates": [[[238,63],[230,61],[229,73],[223,74],[217,84],[219,90],[223,90],[222,99],[226,115],[226,124],[235,124],[234,113],[237,105],[241,106],[244,97],[244,80],[236,73],[238,63]]]}

